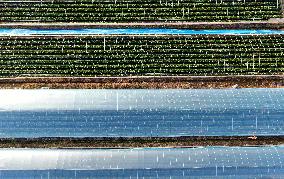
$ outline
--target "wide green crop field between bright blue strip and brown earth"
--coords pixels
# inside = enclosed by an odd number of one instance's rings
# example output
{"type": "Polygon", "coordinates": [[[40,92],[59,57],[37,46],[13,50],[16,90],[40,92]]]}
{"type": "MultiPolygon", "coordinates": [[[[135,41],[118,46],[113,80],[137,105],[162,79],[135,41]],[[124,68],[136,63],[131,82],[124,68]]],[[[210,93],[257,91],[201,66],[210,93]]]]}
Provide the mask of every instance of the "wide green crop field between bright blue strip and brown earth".
{"type": "Polygon", "coordinates": [[[2,36],[0,47],[2,77],[284,71],[284,35],[2,36]]]}

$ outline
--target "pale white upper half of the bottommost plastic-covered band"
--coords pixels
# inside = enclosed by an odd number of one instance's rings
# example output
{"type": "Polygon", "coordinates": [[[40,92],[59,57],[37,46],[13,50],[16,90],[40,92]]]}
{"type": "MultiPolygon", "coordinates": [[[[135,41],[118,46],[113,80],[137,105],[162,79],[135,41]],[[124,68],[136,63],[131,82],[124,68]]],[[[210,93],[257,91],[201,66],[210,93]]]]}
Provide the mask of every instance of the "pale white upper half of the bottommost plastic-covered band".
{"type": "Polygon", "coordinates": [[[0,149],[0,170],[282,168],[284,147],[0,149]]]}

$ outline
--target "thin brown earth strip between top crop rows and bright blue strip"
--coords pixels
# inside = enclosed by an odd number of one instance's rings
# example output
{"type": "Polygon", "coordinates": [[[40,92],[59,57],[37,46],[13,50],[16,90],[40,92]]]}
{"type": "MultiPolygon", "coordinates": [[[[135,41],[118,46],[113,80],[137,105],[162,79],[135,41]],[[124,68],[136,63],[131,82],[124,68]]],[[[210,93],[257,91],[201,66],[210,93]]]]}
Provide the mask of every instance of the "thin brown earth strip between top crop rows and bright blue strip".
{"type": "Polygon", "coordinates": [[[176,28],[176,29],[282,29],[284,19],[240,22],[143,22],[143,23],[1,23],[0,28],[84,29],[84,28],[176,28]]]}

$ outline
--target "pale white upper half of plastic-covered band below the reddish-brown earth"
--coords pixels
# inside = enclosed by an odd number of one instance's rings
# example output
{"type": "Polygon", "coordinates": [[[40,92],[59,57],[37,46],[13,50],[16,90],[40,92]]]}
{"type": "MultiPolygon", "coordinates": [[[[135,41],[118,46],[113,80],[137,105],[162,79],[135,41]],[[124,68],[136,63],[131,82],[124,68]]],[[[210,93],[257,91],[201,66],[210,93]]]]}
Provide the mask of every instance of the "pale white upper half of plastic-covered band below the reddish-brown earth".
{"type": "Polygon", "coordinates": [[[284,89],[0,90],[0,110],[284,109],[284,89]]]}

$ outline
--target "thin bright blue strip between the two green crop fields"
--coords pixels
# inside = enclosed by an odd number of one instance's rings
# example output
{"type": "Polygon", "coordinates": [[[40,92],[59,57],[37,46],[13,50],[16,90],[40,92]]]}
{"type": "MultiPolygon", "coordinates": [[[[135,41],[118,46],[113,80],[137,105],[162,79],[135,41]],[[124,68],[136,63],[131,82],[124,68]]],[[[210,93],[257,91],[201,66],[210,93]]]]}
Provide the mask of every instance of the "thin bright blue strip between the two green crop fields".
{"type": "Polygon", "coordinates": [[[155,29],[155,28],[142,28],[142,29],[0,29],[0,35],[111,35],[111,34],[164,34],[164,35],[269,35],[269,34],[284,34],[282,30],[188,30],[188,29],[155,29]]]}

